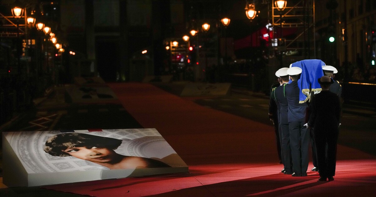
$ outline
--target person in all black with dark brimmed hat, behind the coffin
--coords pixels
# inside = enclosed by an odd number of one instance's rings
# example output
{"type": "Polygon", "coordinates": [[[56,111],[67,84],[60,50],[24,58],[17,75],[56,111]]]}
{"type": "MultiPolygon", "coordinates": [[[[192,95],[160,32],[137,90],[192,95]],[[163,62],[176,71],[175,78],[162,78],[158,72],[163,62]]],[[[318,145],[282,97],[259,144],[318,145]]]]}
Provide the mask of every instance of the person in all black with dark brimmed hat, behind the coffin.
{"type": "Polygon", "coordinates": [[[321,92],[314,95],[311,101],[311,116],[307,128],[314,128],[317,147],[317,161],[320,170],[319,181],[334,180],[338,127],[340,125],[340,100],[337,94],[331,92],[330,86],[334,80],[329,76],[318,78],[321,92]]]}

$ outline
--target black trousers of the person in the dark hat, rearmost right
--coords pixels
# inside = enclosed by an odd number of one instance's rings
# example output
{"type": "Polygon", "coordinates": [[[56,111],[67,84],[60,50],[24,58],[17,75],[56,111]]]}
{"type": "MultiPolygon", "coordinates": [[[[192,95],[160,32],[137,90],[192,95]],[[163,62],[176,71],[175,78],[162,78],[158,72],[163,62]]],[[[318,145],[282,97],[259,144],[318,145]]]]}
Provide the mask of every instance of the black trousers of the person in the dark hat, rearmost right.
{"type": "Polygon", "coordinates": [[[315,128],[317,161],[321,177],[335,175],[338,128],[315,128]]]}

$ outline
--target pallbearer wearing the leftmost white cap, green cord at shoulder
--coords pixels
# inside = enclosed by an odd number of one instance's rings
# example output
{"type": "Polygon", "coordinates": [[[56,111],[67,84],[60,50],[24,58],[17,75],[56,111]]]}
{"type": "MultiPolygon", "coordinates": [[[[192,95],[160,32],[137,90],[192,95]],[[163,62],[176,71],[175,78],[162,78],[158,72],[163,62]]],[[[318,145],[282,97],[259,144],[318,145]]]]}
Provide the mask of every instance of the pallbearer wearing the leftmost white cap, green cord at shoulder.
{"type": "Polygon", "coordinates": [[[287,74],[288,68],[281,68],[276,72],[279,81],[282,84],[276,87],[272,92],[272,98],[278,105],[278,120],[280,128],[280,138],[282,139],[282,151],[284,155],[284,174],[292,174],[292,160],[291,160],[291,147],[290,147],[290,131],[288,129],[288,101],[285,95],[285,88],[289,81],[287,74]]]}

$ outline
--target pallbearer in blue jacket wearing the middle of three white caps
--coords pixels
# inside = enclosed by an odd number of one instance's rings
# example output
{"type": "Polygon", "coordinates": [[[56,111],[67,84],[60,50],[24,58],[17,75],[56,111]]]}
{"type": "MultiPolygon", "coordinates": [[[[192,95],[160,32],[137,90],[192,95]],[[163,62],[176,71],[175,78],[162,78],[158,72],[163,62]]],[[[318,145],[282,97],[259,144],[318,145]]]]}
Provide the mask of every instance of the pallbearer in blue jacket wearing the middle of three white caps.
{"type": "Polygon", "coordinates": [[[288,101],[288,128],[290,132],[291,156],[293,161],[292,176],[307,176],[309,131],[306,123],[305,102],[300,102],[298,80],[302,69],[291,67],[287,70],[292,82],[285,86],[285,95],[288,101]]]}

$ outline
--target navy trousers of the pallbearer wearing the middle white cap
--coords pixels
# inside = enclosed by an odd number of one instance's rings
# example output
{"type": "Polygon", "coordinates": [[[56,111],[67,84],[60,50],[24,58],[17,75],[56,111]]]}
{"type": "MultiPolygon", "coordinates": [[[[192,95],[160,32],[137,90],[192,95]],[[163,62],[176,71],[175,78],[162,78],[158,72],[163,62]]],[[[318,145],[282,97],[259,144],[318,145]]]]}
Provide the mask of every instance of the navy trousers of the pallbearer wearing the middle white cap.
{"type": "Polygon", "coordinates": [[[293,173],[307,174],[309,131],[304,122],[289,122],[291,157],[293,159],[293,173]]]}

